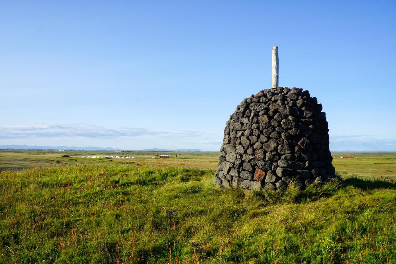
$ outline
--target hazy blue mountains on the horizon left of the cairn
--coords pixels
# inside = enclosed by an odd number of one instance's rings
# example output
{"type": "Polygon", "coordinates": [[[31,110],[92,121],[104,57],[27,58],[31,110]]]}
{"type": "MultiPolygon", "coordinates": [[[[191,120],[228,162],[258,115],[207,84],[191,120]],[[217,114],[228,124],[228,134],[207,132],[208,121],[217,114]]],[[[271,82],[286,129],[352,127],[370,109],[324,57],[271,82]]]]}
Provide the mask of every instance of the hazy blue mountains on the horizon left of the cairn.
{"type": "MultiPolygon", "coordinates": [[[[64,150],[64,149],[72,149],[72,150],[110,150],[110,151],[119,151],[121,149],[114,149],[112,147],[68,147],[68,146],[28,146],[28,145],[0,145],[0,149],[55,149],[55,150],[64,150]]],[[[164,152],[164,151],[177,151],[177,152],[200,152],[200,149],[143,149],[143,150],[134,150],[134,151],[147,151],[147,152],[164,152]]]]}

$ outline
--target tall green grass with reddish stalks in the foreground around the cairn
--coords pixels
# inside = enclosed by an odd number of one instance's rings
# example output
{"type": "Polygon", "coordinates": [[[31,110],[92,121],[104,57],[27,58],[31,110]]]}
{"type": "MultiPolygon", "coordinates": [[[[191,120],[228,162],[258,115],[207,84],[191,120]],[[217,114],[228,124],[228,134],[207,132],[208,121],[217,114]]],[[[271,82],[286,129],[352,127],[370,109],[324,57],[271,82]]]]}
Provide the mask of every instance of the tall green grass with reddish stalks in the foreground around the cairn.
{"type": "Polygon", "coordinates": [[[0,172],[0,262],[395,263],[396,185],[346,178],[231,191],[214,170],[0,172]]]}

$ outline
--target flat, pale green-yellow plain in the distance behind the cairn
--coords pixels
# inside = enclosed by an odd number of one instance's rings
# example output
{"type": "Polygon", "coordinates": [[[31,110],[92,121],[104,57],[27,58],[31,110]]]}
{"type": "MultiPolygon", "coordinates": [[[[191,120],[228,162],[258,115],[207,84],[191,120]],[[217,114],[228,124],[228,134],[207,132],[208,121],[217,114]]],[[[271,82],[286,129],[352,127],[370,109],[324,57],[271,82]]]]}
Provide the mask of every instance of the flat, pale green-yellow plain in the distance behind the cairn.
{"type": "MultiPolygon", "coordinates": [[[[116,152],[116,151],[31,151],[0,150],[0,170],[31,168],[48,165],[80,165],[115,163],[177,166],[187,168],[217,168],[219,152],[168,152],[169,159],[152,159],[158,152],[116,152]],[[69,155],[70,157],[62,157],[69,155]],[[177,157],[176,157],[177,155],[177,157]],[[134,156],[135,159],[82,158],[82,156],[134,156]]],[[[339,153],[333,152],[333,165],[344,178],[396,178],[396,153],[339,153]],[[354,159],[341,159],[341,155],[353,155],[354,159]]]]}

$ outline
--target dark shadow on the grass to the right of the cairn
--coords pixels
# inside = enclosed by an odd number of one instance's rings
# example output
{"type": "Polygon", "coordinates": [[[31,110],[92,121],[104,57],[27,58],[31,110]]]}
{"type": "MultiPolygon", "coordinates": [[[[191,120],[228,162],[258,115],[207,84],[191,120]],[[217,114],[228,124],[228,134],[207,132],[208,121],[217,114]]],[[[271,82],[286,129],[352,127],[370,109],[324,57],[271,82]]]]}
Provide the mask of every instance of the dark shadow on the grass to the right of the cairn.
{"type": "Polygon", "coordinates": [[[396,189],[396,180],[388,177],[381,177],[373,180],[351,177],[343,179],[341,182],[345,187],[353,186],[362,190],[396,189]]]}

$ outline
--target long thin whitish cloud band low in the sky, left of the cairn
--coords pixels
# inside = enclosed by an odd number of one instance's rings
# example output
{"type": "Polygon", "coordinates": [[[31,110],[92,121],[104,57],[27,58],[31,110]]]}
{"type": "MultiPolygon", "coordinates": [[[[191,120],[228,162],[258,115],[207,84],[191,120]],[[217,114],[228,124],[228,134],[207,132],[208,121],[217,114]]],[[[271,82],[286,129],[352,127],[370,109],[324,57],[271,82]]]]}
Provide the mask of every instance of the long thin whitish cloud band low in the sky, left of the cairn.
{"type": "Polygon", "coordinates": [[[198,131],[166,132],[132,127],[114,129],[91,124],[54,123],[0,127],[0,139],[59,137],[121,138],[139,136],[159,136],[161,138],[192,138],[202,136],[202,134],[198,131]]]}

